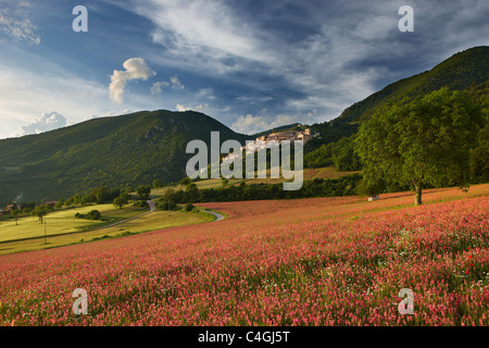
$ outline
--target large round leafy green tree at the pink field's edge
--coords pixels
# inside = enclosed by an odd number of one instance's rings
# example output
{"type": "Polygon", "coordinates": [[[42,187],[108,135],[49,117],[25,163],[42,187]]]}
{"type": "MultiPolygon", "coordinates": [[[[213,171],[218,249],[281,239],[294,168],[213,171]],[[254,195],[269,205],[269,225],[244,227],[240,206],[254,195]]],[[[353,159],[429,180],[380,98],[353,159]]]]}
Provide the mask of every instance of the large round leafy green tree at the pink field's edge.
{"type": "Polygon", "coordinates": [[[446,87],[377,108],[355,140],[365,185],[410,185],[416,206],[426,184],[467,187],[469,150],[482,125],[481,108],[446,87]]]}

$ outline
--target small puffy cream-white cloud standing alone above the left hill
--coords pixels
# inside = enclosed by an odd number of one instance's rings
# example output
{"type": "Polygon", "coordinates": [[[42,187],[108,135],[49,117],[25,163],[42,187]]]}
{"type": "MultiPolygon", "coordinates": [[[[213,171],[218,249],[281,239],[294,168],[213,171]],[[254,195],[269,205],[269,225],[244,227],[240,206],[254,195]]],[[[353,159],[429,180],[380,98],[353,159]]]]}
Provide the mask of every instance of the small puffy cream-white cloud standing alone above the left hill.
{"type": "Polygon", "coordinates": [[[142,58],[129,58],[123,64],[125,71],[114,70],[111,76],[109,91],[111,99],[117,103],[123,102],[124,87],[130,79],[143,79],[155,75],[153,71],[146,64],[142,58]]]}

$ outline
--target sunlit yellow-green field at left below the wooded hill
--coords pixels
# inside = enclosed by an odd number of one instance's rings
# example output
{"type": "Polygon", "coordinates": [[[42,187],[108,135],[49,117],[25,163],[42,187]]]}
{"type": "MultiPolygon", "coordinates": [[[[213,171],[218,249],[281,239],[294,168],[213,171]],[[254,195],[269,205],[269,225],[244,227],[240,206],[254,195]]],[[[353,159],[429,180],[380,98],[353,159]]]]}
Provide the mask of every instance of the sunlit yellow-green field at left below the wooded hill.
{"type": "Polygon", "coordinates": [[[131,206],[114,209],[112,204],[77,207],[49,213],[45,216],[46,226],[40,224],[35,216],[20,217],[17,224],[13,219],[0,222],[0,254],[124,237],[212,220],[214,220],[213,215],[201,212],[153,211],[149,213],[148,209],[131,206]],[[77,212],[86,214],[93,209],[99,210],[106,221],[92,221],[74,216],[77,212]],[[142,216],[125,221],[138,215],[142,216]],[[114,223],[117,224],[112,226],[114,223]]]}

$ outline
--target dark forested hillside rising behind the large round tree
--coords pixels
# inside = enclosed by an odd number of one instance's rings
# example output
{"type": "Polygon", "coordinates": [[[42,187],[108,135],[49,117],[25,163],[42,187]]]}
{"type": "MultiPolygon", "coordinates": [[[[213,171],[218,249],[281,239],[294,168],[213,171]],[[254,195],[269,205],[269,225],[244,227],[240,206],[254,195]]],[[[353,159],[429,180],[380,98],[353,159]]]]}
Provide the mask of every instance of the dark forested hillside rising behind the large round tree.
{"type": "MultiPolygon", "coordinates": [[[[465,90],[485,110],[489,110],[489,47],[475,47],[459,52],[430,71],[396,82],[378,92],[347,108],[339,117],[312,125],[321,139],[313,139],[305,147],[304,165],[318,167],[360,170],[354,153],[353,139],[362,121],[368,120],[376,108],[401,102],[403,98],[427,95],[441,87],[465,90]]],[[[471,166],[475,182],[489,179],[489,129],[480,129],[479,144],[472,151],[471,166]]]]}

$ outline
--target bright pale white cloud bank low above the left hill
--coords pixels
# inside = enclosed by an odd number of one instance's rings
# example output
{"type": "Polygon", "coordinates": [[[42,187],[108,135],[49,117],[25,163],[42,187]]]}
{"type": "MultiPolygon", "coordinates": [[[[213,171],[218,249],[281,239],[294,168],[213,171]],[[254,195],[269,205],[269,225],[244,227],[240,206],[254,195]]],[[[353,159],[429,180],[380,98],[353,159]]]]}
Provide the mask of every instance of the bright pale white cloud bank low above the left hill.
{"type": "MultiPolygon", "coordinates": [[[[0,48],[3,53],[1,49],[3,47],[0,48]]],[[[51,110],[65,116],[66,124],[75,124],[89,115],[116,115],[127,113],[126,109],[161,108],[161,103],[153,103],[145,96],[134,96],[130,104],[114,108],[106,98],[105,84],[78,77],[42,57],[29,55],[23,49],[13,52],[14,57],[27,57],[35,63],[29,69],[0,54],[0,138],[16,136],[21,126],[33,123],[35,115],[51,110]],[[105,112],[108,110],[112,113],[105,112]]]]}

